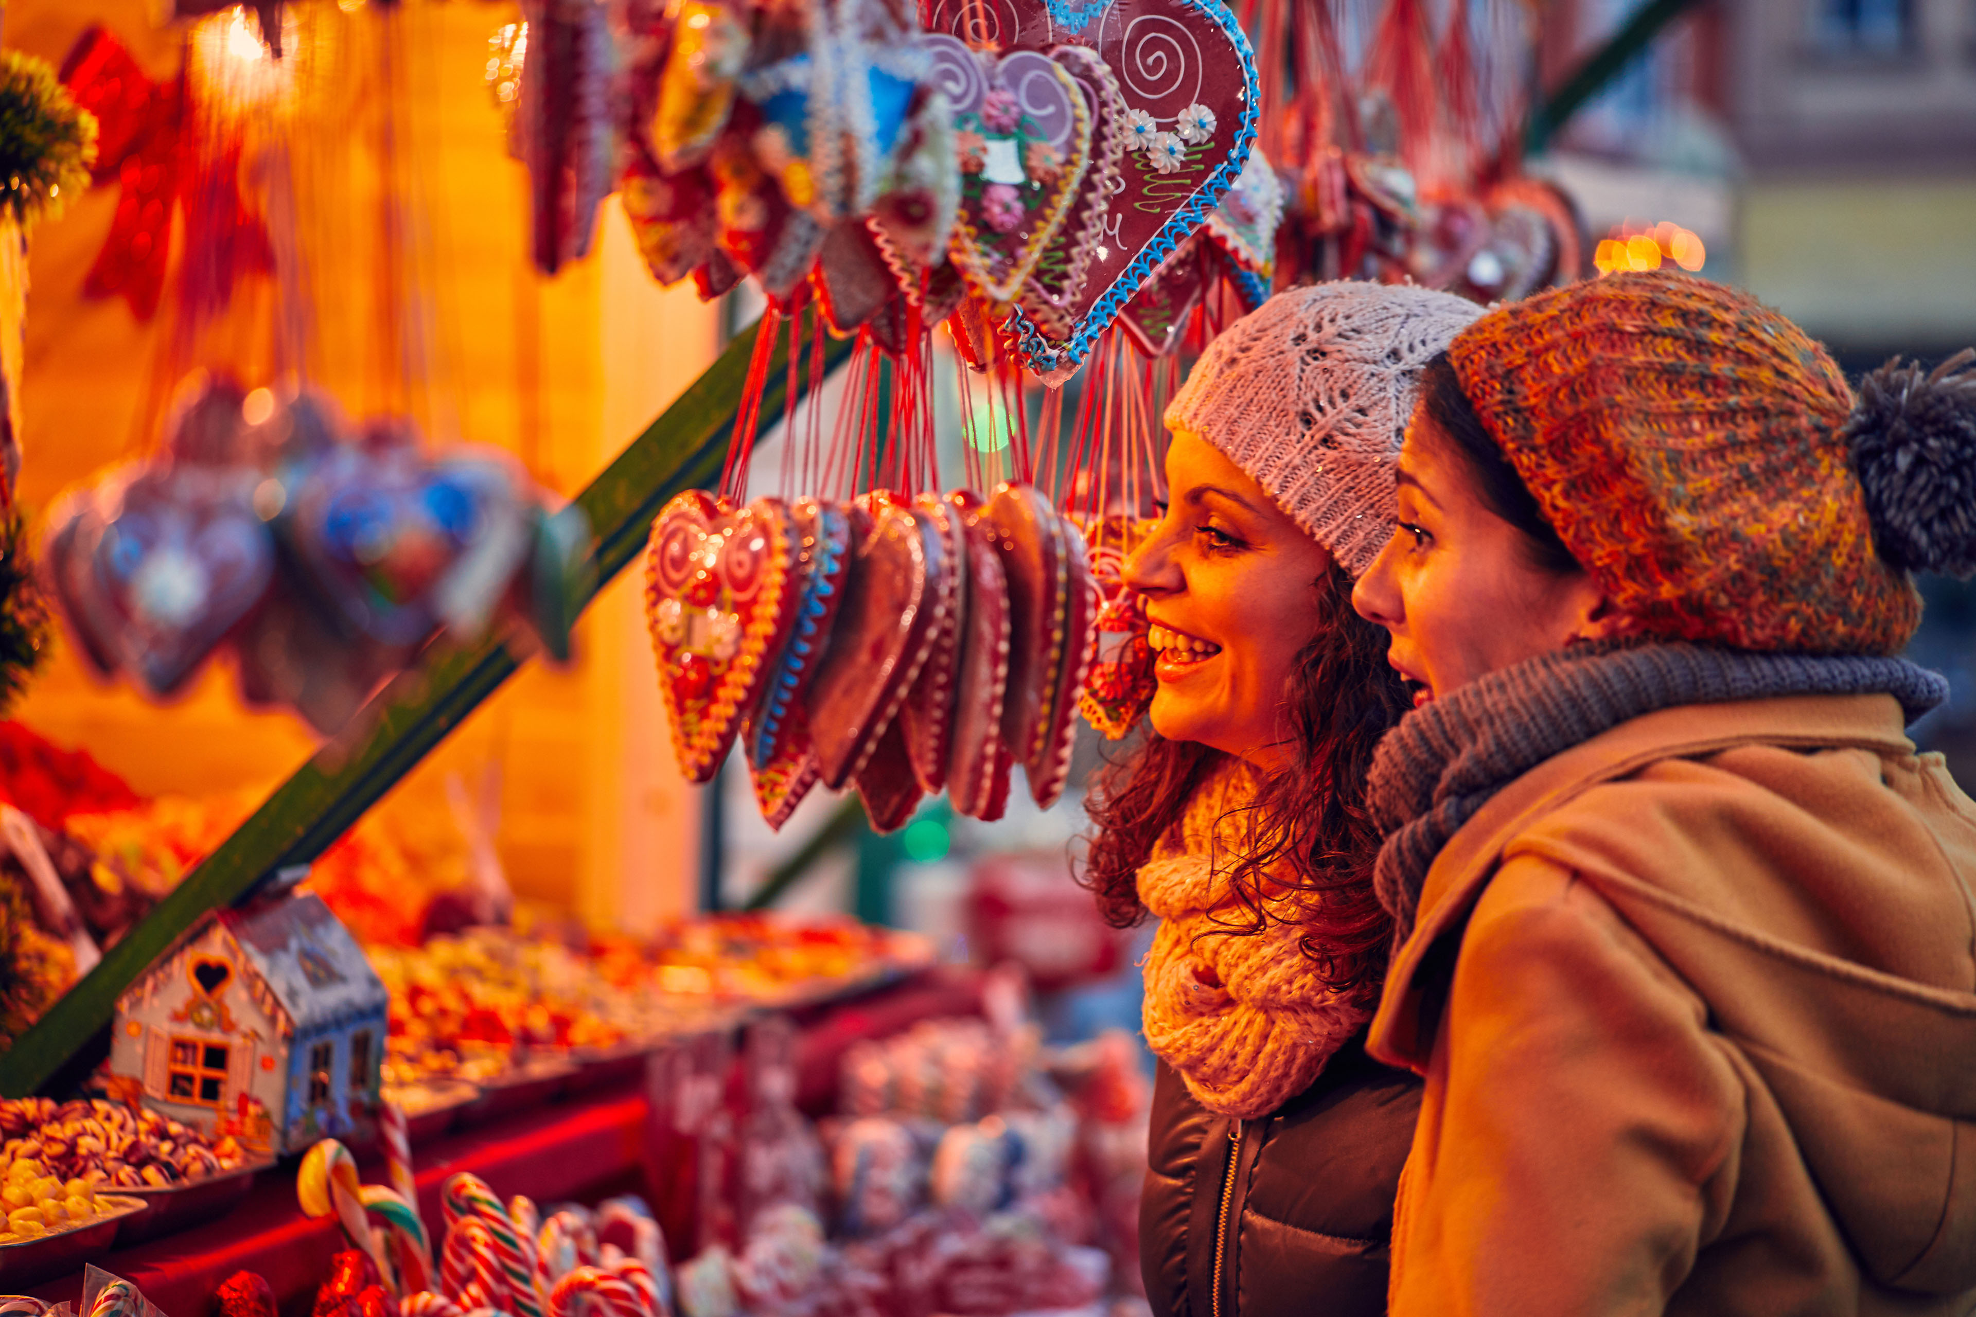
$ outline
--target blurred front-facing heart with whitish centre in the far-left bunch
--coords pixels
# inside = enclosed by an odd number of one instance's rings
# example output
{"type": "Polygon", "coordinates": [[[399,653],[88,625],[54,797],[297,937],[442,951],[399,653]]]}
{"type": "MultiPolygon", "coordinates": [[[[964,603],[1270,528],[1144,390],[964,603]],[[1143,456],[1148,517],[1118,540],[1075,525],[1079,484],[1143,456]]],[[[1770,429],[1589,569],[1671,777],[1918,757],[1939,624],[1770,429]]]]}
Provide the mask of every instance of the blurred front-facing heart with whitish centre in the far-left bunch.
{"type": "Polygon", "coordinates": [[[180,689],[275,575],[253,472],[168,468],[103,507],[83,588],[117,665],[156,697],[180,689]]]}

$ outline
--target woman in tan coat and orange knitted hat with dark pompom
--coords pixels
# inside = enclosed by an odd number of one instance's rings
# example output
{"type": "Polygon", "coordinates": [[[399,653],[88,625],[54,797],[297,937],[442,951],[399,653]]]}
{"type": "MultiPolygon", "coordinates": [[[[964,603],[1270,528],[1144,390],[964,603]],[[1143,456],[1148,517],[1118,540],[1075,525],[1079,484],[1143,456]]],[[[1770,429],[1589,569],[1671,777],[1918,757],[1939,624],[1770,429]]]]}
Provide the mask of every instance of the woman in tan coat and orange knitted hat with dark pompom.
{"type": "Polygon", "coordinates": [[[1391,1311],[1976,1309],[1976,804],[1903,727],[1976,569],[1976,373],[1857,397],[1749,296],[1614,274],[1423,379],[1356,604],[1425,1078],[1391,1311]]]}

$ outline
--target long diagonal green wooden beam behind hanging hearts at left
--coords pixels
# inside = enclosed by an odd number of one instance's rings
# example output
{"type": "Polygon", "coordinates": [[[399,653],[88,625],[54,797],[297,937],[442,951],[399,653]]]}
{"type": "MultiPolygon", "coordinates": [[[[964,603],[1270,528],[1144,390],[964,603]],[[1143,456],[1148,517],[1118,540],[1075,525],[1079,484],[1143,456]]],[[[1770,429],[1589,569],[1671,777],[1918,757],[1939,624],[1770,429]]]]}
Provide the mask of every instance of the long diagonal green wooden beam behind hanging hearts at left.
{"type": "MultiPolygon", "coordinates": [[[[828,369],[842,365],[850,348],[848,340],[830,340],[828,369]]],[[[575,498],[595,531],[595,571],[579,606],[638,557],[666,500],[719,480],[753,349],[751,326],[575,498]]],[[[782,409],[786,355],[786,346],[779,346],[763,391],[763,417],[773,419],[782,409]]],[[[123,989],[207,910],[233,904],[279,869],[322,855],[526,658],[496,636],[464,648],[431,646],[415,669],[371,701],[364,723],[370,731],[360,744],[330,744],[302,764],[0,1054],[0,1096],[20,1098],[45,1084],[111,1023],[123,989]]],[[[652,735],[664,733],[654,727],[652,735]]]]}

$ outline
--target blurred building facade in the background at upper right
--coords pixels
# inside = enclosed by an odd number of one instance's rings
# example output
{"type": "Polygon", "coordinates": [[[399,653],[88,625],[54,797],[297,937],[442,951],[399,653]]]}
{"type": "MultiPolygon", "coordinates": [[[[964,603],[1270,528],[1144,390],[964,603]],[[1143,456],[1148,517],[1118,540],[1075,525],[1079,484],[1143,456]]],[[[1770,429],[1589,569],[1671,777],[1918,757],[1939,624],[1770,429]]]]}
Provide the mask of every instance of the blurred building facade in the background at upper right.
{"type": "MultiPolygon", "coordinates": [[[[1557,85],[1636,0],[1545,12],[1557,85]]],[[[1976,342],[1976,4],[1707,0],[1589,105],[1547,168],[1595,235],[1672,219],[1852,369],[1976,342]]]]}

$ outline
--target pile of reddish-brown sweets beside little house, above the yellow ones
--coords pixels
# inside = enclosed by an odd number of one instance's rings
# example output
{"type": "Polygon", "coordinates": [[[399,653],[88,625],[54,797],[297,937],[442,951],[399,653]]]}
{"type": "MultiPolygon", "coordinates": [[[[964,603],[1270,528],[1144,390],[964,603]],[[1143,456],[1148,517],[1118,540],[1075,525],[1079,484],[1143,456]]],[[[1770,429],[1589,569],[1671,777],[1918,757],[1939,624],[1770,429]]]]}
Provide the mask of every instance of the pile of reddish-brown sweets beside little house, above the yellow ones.
{"type": "MultiPolygon", "coordinates": [[[[6,1175],[81,1181],[103,1189],[164,1189],[247,1165],[247,1149],[217,1141],[158,1112],[103,1098],[0,1098],[0,1161],[6,1175]]],[[[14,1183],[12,1179],[8,1183],[14,1183]]]]}

